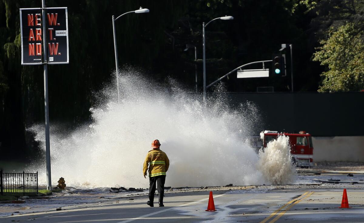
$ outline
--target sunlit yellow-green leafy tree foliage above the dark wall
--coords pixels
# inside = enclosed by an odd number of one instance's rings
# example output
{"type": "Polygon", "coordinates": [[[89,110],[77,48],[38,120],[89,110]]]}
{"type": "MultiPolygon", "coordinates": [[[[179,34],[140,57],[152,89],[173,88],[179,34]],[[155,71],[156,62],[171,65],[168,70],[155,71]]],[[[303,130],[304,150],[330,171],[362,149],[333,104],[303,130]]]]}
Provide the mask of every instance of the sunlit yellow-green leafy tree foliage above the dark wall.
{"type": "Polygon", "coordinates": [[[327,40],[314,53],[314,61],[327,66],[318,91],[359,91],[364,89],[364,32],[347,23],[331,28],[327,40]]]}

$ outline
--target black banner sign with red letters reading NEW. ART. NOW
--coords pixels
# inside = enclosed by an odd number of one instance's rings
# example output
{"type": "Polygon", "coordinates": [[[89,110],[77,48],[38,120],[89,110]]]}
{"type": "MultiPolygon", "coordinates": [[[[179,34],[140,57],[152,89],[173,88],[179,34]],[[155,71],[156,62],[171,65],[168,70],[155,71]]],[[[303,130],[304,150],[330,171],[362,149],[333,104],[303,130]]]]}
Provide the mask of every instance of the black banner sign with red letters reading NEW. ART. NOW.
{"type": "MultiPolygon", "coordinates": [[[[67,7],[46,9],[47,63],[68,63],[67,7]]],[[[41,8],[20,9],[21,64],[42,64],[43,21],[41,8]]]]}

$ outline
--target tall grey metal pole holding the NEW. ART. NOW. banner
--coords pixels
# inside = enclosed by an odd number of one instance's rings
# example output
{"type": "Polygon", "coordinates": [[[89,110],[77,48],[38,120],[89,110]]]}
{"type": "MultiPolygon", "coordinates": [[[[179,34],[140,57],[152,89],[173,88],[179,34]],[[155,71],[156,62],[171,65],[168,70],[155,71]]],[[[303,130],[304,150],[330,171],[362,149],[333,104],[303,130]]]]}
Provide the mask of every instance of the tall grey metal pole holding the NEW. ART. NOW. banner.
{"type": "Polygon", "coordinates": [[[52,190],[51,178],[51,150],[49,142],[49,107],[48,107],[48,68],[47,68],[47,32],[46,32],[46,0],[42,0],[42,20],[43,20],[43,56],[44,56],[44,113],[46,118],[46,162],[47,162],[47,190],[52,190]]]}

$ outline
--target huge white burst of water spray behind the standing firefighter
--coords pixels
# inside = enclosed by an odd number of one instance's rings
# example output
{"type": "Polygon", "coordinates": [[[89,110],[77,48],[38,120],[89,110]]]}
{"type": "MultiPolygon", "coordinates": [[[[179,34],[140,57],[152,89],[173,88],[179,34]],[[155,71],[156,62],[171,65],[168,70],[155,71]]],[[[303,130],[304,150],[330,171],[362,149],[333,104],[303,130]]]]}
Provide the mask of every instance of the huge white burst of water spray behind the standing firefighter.
{"type": "MultiPolygon", "coordinates": [[[[161,86],[135,71],[124,72],[120,86],[120,103],[115,90],[110,90],[114,85],[98,93],[104,99],[90,109],[91,125],[67,134],[51,128],[53,184],[62,176],[67,185],[76,187],[148,187],[142,163],[154,139],[161,141],[161,150],[171,162],[166,186],[270,182],[264,175],[272,175],[273,170],[258,168],[258,155],[243,140],[254,125],[251,112],[256,108],[251,103],[231,110],[222,98],[215,97],[204,106],[201,98],[176,83],[161,86]]],[[[31,130],[37,133],[36,140],[44,141],[43,126],[31,130]]],[[[35,167],[40,181],[46,179],[43,163],[41,167],[35,167]]],[[[274,178],[272,182],[285,180],[274,178]]]]}

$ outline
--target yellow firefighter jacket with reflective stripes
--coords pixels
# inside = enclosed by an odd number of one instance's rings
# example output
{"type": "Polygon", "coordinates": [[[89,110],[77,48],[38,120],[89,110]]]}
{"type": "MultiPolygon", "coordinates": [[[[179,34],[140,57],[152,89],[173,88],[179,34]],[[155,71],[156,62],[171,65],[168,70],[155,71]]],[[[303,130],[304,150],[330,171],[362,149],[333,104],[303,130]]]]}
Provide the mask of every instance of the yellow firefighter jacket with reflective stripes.
{"type": "Polygon", "coordinates": [[[169,168],[169,159],[167,154],[160,149],[152,149],[147,153],[143,163],[143,173],[147,175],[149,164],[149,177],[166,175],[169,168]]]}

